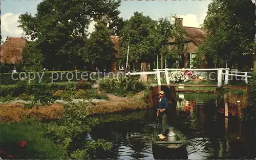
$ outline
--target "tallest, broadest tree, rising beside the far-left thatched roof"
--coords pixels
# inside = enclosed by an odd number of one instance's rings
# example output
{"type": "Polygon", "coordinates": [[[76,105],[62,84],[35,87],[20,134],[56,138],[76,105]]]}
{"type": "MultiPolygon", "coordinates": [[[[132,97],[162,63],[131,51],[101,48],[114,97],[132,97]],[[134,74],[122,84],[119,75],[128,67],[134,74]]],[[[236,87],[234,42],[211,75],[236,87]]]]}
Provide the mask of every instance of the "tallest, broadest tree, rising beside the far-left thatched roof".
{"type": "Polygon", "coordinates": [[[46,0],[38,5],[35,16],[20,15],[19,26],[26,36],[37,41],[36,48],[44,57],[45,67],[71,69],[83,63],[89,24],[104,20],[114,28],[120,21],[119,6],[120,0],[46,0]]]}

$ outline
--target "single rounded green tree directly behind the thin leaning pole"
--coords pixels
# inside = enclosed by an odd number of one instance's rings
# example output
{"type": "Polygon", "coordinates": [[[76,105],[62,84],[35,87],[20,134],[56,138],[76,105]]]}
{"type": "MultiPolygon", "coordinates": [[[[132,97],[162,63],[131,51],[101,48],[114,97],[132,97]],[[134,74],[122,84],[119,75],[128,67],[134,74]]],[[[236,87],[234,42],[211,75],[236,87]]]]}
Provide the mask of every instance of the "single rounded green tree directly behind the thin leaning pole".
{"type": "Polygon", "coordinates": [[[151,32],[155,26],[156,21],[139,12],[135,12],[129,20],[126,20],[120,32],[120,61],[126,61],[129,37],[129,62],[139,62],[141,59],[152,57],[154,46],[148,39],[150,39],[151,32]]]}

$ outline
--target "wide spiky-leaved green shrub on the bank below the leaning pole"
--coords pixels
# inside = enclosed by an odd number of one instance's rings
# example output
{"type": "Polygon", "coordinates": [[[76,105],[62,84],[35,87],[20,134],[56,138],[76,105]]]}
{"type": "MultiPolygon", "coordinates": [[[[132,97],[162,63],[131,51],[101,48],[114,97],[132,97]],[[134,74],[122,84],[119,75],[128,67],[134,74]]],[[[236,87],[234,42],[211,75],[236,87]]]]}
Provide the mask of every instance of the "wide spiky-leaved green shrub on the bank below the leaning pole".
{"type": "Polygon", "coordinates": [[[106,92],[119,96],[138,93],[146,88],[138,79],[130,77],[105,77],[100,81],[99,86],[106,92]]]}

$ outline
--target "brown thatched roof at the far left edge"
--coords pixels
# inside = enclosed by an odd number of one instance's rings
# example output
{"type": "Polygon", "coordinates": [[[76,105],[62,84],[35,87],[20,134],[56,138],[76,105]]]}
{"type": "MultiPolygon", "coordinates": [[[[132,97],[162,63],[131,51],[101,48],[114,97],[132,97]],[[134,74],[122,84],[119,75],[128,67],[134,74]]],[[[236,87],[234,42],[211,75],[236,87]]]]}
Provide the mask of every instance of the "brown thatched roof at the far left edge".
{"type": "Polygon", "coordinates": [[[26,45],[26,39],[23,37],[9,37],[1,45],[1,63],[15,64],[22,60],[23,48],[26,45]]]}

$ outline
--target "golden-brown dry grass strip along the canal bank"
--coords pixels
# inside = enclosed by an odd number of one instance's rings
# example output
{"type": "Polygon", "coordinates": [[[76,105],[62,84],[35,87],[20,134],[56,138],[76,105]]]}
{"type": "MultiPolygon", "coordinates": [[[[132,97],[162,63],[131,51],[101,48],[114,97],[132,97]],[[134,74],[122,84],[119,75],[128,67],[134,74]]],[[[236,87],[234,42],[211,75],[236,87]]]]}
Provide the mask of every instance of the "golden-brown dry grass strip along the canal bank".
{"type": "MultiPolygon", "coordinates": [[[[85,101],[90,115],[115,113],[125,110],[139,110],[148,107],[143,99],[144,93],[136,94],[133,98],[127,98],[118,101],[85,101]]],[[[68,103],[68,101],[67,101],[68,103]]],[[[29,118],[38,117],[41,121],[49,121],[59,119],[63,113],[62,103],[54,103],[51,105],[41,105],[38,110],[36,108],[29,109],[23,103],[3,103],[0,104],[0,120],[1,122],[18,122],[29,118]]]]}

